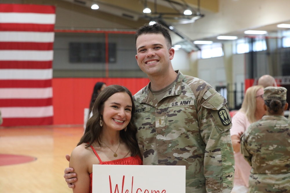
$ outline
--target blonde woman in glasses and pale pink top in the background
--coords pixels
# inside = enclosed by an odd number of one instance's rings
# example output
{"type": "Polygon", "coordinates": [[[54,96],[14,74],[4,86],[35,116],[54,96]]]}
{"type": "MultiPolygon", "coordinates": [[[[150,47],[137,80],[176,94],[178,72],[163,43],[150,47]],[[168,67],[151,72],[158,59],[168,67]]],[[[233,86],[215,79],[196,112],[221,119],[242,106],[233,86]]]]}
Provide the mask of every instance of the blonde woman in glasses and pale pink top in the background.
{"type": "Polygon", "coordinates": [[[251,123],[260,120],[265,114],[263,93],[263,87],[260,85],[249,87],[241,109],[232,118],[231,139],[235,155],[235,178],[232,193],[248,192],[251,166],[240,153],[240,135],[251,123]]]}

